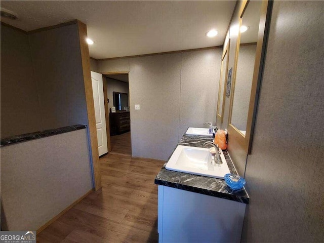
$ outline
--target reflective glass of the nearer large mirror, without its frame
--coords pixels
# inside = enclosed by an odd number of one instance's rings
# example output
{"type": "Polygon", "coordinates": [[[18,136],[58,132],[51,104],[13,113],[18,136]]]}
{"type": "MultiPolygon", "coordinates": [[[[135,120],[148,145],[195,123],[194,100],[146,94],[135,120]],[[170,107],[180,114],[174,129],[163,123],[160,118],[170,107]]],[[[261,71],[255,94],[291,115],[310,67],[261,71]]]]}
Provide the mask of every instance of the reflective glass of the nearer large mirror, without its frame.
{"type": "Polygon", "coordinates": [[[242,16],[231,124],[244,136],[250,105],[262,1],[250,1],[242,16]],[[246,30],[246,31],[244,31],[246,30]]]}

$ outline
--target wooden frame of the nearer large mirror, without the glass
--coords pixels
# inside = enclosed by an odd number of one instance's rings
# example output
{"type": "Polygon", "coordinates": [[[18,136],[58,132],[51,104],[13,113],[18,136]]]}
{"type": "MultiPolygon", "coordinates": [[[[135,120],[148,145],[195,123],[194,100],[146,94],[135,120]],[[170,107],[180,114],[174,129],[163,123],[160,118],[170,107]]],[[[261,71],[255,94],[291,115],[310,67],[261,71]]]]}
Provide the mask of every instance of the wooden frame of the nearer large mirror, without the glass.
{"type": "MultiPolygon", "coordinates": [[[[261,84],[261,74],[263,70],[263,62],[264,62],[264,54],[266,49],[266,39],[267,39],[267,29],[269,22],[269,2],[262,1],[261,13],[260,13],[260,21],[259,21],[259,31],[258,31],[258,39],[257,39],[257,49],[256,49],[256,57],[254,63],[253,70],[253,78],[252,78],[252,87],[251,87],[251,95],[250,95],[250,103],[249,103],[249,111],[248,111],[248,120],[247,120],[247,129],[246,135],[244,136],[241,132],[238,131],[231,124],[232,119],[232,107],[233,107],[233,99],[235,93],[235,82],[236,82],[236,71],[237,71],[237,60],[238,60],[238,51],[240,44],[240,27],[242,24],[242,17],[244,16],[245,10],[247,9],[250,1],[243,1],[242,6],[239,10],[239,28],[238,28],[238,37],[236,43],[236,51],[235,51],[235,61],[233,67],[233,80],[231,87],[231,97],[230,97],[230,105],[229,105],[229,118],[228,118],[228,134],[230,140],[235,140],[240,149],[245,151],[247,154],[251,154],[252,147],[252,139],[256,118],[256,110],[257,103],[259,98],[259,89],[261,84]],[[267,21],[266,21],[267,20],[267,21]]],[[[229,140],[229,142],[230,142],[229,140]]]]}

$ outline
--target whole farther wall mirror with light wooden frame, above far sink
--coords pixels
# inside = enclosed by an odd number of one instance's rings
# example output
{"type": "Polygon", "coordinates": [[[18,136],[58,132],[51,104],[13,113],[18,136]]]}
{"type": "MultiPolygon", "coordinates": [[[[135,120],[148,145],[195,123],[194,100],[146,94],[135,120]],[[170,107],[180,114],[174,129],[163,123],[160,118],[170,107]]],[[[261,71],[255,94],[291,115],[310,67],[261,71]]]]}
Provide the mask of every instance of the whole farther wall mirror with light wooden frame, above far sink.
{"type": "Polygon", "coordinates": [[[227,69],[228,69],[228,55],[229,55],[229,41],[223,50],[222,63],[221,63],[221,75],[219,80],[218,89],[218,102],[217,102],[217,117],[216,125],[221,128],[224,116],[224,103],[225,103],[225,92],[226,92],[226,81],[227,81],[227,69]]]}

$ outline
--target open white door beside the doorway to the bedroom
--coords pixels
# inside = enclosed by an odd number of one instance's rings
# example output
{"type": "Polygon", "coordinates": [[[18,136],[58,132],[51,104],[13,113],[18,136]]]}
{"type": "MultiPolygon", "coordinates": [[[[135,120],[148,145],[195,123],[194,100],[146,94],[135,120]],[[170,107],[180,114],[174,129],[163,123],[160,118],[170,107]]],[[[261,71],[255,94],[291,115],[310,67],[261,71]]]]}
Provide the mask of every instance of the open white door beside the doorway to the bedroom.
{"type": "Polygon", "coordinates": [[[108,152],[102,74],[97,72],[91,72],[91,80],[92,80],[93,101],[95,104],[98,150],[100,156],[108,152]]]}

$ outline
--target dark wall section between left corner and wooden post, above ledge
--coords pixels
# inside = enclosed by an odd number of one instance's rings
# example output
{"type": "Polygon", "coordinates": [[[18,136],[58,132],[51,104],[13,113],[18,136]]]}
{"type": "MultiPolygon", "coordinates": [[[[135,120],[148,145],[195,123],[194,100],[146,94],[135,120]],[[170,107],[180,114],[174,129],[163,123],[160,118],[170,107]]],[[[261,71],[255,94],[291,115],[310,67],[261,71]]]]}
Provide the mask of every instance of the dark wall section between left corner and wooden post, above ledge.
{"type": "Polygon", "coordinates": [[[44,129],[87,125],[77,24],[29,34],[29,41],[44,129]]]}

